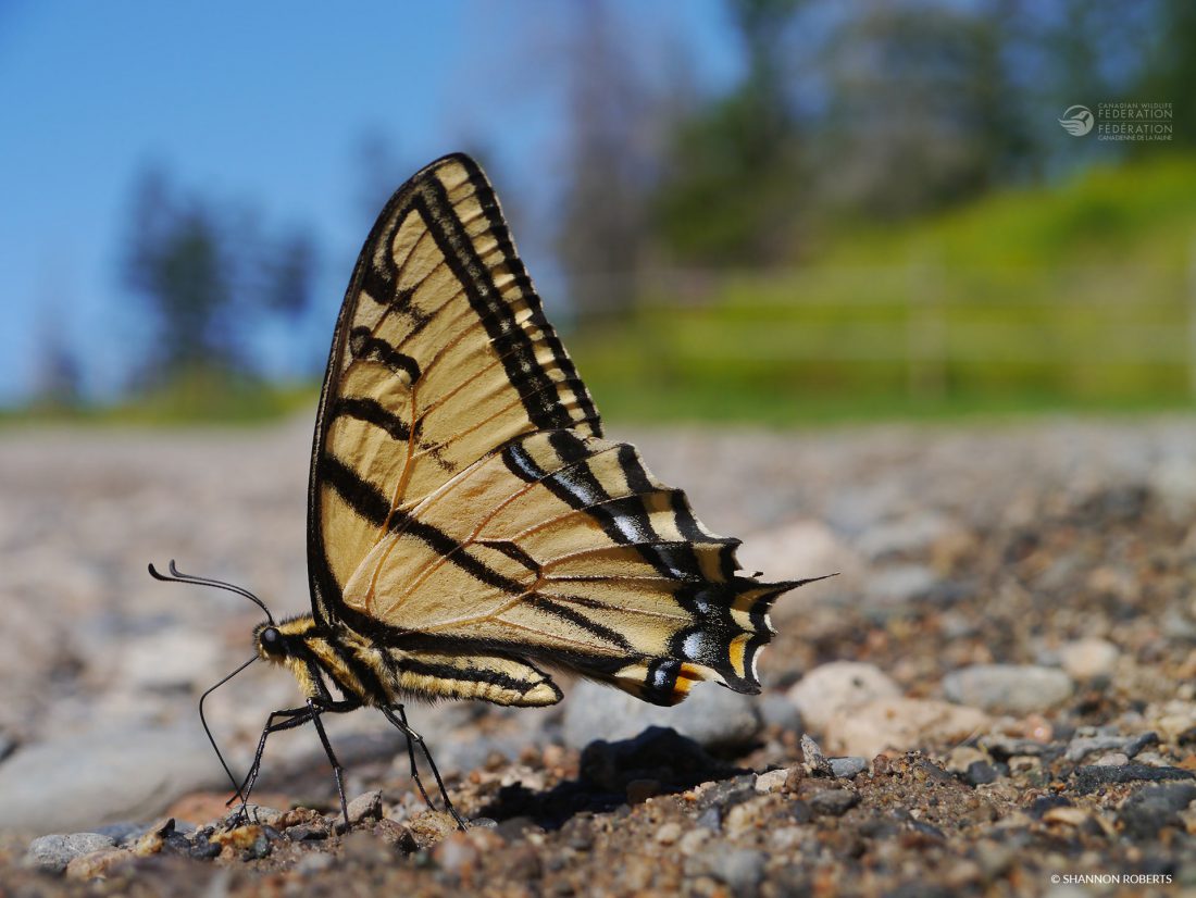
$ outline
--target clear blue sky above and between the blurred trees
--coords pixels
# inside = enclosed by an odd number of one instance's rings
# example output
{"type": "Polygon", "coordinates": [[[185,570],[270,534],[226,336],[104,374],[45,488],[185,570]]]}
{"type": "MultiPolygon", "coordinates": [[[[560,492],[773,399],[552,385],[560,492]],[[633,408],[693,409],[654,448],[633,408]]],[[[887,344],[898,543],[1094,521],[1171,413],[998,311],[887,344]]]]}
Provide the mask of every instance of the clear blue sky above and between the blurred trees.
{"type": "MultiPolygon", "coordinates": [[[[739,73],[718,0],[609,6],[645,66],[681,48],[703,90],[739,73]]],[[[573,8],[0,0],[0,403],[30,389],[51,329],[99,389],[127,371],[145,334],[118,259],[146,164],[269,226],[311,227],[325,249],[313,326],[327,332],[370,224],[355,206],[365,134],[407,173],[481,147],[504,194],[550,208],[573,8]]]]}

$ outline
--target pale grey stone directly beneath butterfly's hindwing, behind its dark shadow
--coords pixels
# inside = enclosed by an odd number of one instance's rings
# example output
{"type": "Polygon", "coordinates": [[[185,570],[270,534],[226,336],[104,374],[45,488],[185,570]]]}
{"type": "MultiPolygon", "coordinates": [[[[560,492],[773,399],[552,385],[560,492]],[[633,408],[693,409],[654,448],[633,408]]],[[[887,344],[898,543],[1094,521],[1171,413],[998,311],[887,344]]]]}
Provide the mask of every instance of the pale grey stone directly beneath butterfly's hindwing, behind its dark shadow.
{"type": "Polygon", "coordinates": [[[750,696],[700,685],[678,705],[661,708],[610,686],[582,680],[565,703],[565,743],[584,749],[596,739],[616,741],[652,726],[671,727],[704,749],[743,747],[759,733],[759,709],[750,696]]]}

